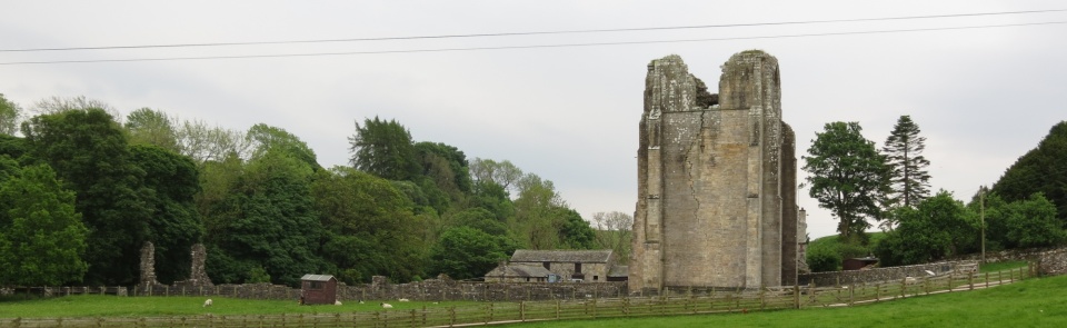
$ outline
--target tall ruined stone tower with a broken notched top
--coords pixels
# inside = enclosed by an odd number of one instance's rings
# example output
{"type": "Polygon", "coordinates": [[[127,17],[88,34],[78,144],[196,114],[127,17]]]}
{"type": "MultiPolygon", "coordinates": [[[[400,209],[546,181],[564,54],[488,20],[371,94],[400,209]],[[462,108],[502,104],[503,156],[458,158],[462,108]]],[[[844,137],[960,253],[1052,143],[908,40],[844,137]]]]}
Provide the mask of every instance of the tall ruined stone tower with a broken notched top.
{"type": "Polygon", "coordinates": [[[678,56],[652,60],[645,86],[630,290],[792,285],[797,162],[778,60],[734,54],[717,99],[678,56]]]}

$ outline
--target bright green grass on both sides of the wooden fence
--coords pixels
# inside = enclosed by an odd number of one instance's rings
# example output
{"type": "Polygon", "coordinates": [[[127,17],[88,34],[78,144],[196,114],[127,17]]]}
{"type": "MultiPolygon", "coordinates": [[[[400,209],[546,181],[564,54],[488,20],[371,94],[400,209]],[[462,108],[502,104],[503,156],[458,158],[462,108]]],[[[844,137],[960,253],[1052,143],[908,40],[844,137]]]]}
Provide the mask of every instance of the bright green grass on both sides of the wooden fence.
{"type": "MultiPolygon", "coordinates": [[[[1025,266],[1005,262],[983,269],[1025,266]]],[[[299,315],[378,311],[377,301],[342,306],[299,306],[296,301],[212,297],[71,296],[43,299],[0,298],[0,318],[166,317],[299,315]]],[[[479,302],[391,302],[396,310],[478,306],[479,302]]],[[[510,327],[1067,327],[1067,276],[1031,278],[990,289],[913,297],[841,308],[805,308],[766,312],[545,321],[510,327]]]]}

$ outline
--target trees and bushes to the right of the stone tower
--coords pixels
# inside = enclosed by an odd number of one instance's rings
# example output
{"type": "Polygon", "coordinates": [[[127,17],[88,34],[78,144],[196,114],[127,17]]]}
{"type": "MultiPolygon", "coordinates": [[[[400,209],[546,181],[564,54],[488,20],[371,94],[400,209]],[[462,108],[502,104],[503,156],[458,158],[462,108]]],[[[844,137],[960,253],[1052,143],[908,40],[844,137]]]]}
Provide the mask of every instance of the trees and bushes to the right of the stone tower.
{"type": "Polygon", "coordinates": [[[827,123],[804,157],[809,195],[837,219],[840,241],[808,250],[814,271],[835,270],[850,257],[898,266],[1067,242],[1067,121],[967,203],[946,190],[930,196],[926,138],[909,116],[880,150],[861,130],[857,122],[827,123]],[[885,231],[874,241],[865,232],[871,222],[885,231]]]}

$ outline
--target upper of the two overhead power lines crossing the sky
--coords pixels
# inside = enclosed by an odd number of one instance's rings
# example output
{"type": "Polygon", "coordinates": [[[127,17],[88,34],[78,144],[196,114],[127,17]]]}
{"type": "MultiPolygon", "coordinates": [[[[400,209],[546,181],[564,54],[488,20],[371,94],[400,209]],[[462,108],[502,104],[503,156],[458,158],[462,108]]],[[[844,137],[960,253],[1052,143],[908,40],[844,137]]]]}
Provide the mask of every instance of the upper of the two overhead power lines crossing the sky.
{"type": "Polygon", "coordinates": [[[420,40],[420,39],[455,39],[455,38],[517,37],[517,36],[544,36],[544,34],[572,34],[572,33],[605,33],[605,32],[632,32],[632,31],[659,31],[659,30],[688,30],[688,29],[714,29],[714,28],[761,27],[761,26],[789,26],[789,24],[816,24],[816,23],[839,23],[839,22],[864,22],[864,21],[893,21],[893,20],[915,20],[915,19],[935,19],[935,18],[959,18],[959,17],[981,17],[981,16],[1006,16],[1006,14],[1045,13],[1045,12],[1060,12],[1060,11],[1067,11],[1067,9],[1000,11],[1000,12],[978,12],[978,13],[951,13],[951,14],[884,17],[884,18],[858,18],[858,19],[832,19],[832,20],[809,20],[809,21],[784,21],[784,22],[760,22],[760,23],[705,24],[705,26],[681,26],[681,27],[648,27],[648,28],[620,28],[620,29],[564,30],[564,31],[502,32],[502,33],[473,33],[473,34],[439,34],[439,36],[408,36],[408,37],[377,37],[377,38],[321,39],[321,40],[289,40],[289,41],[249,41],[249,42],[217,42],[217,43],[176,43],[176,44],[141,44],[141,46],[101,46],[101,47],[70,47],[70,48],[0,49],[0,52],[71,51],[71,50],[114,50],[114,49],[229,47],[229,46],[266,46],[266,44],[293,44],[293,43],[328,43],[328,42],[359,42],[359,41],[387,41],[387,40],[420,40]]]}

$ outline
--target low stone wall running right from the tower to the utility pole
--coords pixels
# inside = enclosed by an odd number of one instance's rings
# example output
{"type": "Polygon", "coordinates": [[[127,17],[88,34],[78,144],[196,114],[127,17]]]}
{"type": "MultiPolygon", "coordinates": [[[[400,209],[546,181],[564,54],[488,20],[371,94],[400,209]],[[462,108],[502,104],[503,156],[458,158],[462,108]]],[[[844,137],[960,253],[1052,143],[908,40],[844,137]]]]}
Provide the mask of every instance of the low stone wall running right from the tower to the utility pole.
{"type": "Polygon", "coordinates": [[[814,282],[816,286],[842,286],[851,284],[893,281],[904,279],[905,277],[926,277],[929,276],[927,271],[931,271],[937,276],[941,276],[953,272],[971,271],[976,270],[977,268],[978,261],[963,260],[915,266],[875,268],[867,270],[804,274],[797,276],[797,281],[800,285],[810,285],[814,282]]]}

